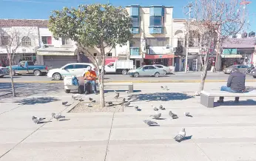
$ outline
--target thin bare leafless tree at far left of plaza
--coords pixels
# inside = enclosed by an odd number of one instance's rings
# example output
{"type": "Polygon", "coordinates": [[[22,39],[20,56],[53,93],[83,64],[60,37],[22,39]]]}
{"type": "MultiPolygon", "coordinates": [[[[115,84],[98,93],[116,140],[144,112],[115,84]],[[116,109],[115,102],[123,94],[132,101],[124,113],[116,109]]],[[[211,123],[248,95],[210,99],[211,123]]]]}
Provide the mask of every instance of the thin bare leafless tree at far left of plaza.
{"type": "MultiPolygon", "coordinates": [[[[24,42],[33,37],[33,27],[4,27],[0,28],[1,45],[7,50],[7,57],[10,66],[10,79],[12,84],[13,97],[16,97],[15,86],[13,83],[14,71],[12,69],[13,61],[17,49],[23,46],[24,42]]],[[[31,41],[30,41],[31,43],[31,41]]],[[[30,44],[31,45],[31,44],[30,44]]]]}

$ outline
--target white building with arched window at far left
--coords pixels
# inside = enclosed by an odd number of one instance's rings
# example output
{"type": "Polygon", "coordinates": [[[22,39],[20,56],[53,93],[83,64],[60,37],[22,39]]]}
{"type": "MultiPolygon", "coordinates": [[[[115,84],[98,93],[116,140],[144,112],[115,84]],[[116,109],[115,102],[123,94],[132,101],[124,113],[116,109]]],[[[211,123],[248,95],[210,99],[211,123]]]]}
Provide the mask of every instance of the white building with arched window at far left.
{"type": "Polygon", "coordinates": [[[40,46],[38,27],[47,27],[47,20],[0,19],[0,61],[8,66],[7,47],[10,53],[16,49],[13,64],[19,61],[36,61],[36,50],[40,46]],[[11,44],[11,45],[10,45],[11,44]]]}

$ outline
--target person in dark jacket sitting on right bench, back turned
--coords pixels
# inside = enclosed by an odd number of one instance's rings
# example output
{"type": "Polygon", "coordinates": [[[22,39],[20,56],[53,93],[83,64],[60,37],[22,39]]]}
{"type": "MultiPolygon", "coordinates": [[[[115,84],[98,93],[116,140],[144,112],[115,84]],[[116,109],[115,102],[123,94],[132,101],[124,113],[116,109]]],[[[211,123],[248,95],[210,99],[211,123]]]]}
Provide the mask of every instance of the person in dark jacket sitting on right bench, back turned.
{"type": "MultiPolygon", "coordinates": [[[[246,75],[241,73],[238,68],[232,69],[226,86],[221,86],[220,91],[242,93],[245,92],[246,75]]],[[[223,103],[224,97],[220,97],[218,103],[223,103]]],[[[239,103],[239,97],[235,97],[235,103],[239,103]]]]}

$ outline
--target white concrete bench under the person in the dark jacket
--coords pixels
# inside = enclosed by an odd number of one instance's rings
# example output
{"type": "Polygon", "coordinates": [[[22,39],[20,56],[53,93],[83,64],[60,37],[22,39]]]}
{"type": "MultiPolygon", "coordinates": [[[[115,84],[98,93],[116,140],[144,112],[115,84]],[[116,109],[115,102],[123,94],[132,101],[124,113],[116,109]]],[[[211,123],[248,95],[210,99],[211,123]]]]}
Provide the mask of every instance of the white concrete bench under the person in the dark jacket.
{"type": "Polygon", "coordinates": [[[202,91],[201,92],[201,104],[206,107],[214,107],[215,97],[256,97],[256,90],[245,93],[232,93],[226,91],[202,91]]]}

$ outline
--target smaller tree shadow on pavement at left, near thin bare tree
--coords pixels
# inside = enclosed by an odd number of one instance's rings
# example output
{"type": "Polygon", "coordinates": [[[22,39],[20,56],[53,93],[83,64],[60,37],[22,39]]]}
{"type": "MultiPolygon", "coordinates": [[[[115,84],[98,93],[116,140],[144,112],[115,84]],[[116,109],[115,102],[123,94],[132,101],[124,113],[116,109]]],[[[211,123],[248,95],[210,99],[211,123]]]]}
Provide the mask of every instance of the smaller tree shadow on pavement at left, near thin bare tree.
{"type": "Polygon", "coordinates": [[[55,97],[32,97],[26,98],[23,100],[17,100],[15,103],[20,103],[21,105],[35,105],[35,104],[44,104],[58,101],[55,97]]]}

